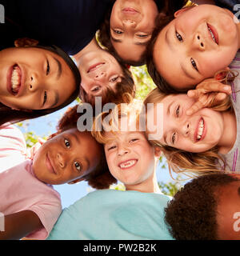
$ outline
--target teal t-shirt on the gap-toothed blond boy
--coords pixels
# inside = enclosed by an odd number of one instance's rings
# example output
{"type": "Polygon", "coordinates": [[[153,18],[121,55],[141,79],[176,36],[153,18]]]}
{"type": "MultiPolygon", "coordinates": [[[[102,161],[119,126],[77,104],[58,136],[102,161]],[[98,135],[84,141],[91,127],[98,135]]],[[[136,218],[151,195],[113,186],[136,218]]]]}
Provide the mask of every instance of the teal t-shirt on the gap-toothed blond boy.
{"type": "Polygon", "coordinates": [[[62,210],[49,240],[173,240],[164,222],[169,197],[96,190],[62,210]]]}

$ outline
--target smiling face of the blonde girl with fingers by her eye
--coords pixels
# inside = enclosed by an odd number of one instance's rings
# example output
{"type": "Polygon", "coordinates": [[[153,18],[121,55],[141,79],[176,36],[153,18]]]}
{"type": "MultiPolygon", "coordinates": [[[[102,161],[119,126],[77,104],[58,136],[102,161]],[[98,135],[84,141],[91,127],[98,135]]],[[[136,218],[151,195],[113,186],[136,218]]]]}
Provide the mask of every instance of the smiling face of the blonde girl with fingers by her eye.
{"type": "MultiPolygon", "coordinates": [[[[157,116],[155,106],[149,111],[154,111],[154,123],[157,118],[163,119],[163,135],[158,139],[163,146],[200,153],[210,150],[221,142],[224,135],[224,120],[221,112],[204,108],[191,116],[186,115],[186,110],[194,103],[194,100],[186,94],[168,95],[161,103],[163,117],[157,116]]],[[[154,126],[149,126],[148,129],[153,130],[154,126]]]]}

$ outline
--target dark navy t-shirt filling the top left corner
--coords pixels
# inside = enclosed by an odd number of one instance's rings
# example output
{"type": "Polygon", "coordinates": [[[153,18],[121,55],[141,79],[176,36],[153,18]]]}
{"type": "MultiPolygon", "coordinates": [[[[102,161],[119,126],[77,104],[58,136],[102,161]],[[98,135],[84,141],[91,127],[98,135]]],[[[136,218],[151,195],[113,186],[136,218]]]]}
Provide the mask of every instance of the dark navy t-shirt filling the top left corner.
{"type": "MultiPolygon", "coordinates": [[[[68,54],[82,50],[99,29],[110,0],[2,0],[1,40],[28,37],[56,45],[68,54]],[[7,37],[7,38],[5,38],[7,37]]],[[[0,42],[1,43],[1,42],[0,42]]],[[[3,47],[7,46],[5,43],[3,47]]]]}

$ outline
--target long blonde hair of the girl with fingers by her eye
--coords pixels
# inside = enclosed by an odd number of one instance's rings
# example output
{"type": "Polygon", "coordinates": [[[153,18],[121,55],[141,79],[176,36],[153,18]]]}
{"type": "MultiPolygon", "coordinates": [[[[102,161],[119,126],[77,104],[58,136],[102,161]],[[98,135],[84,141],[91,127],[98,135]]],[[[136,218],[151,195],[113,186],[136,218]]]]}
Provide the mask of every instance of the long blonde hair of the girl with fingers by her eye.
{"type": "MultiPolygon", "coordinates": [[[[225,71],[221,71],[225,72],[225,71]]],[[[220,72],[218,72],[219,74],[220,72]]],[[[230,71],[232,74],[232,71],[230,71]]],[[[217,75],[217,74],[216,74],[217,75]]],[[[215,75],[215,76],[216,76],[215,75]]],[[[224,78],[220,80],[220,82],[232,82],[236,77],[234,75],[230,76],[230,79],[226,80],[228,74],[223,75],[224,78]]],[[[143,102],[146,110],[148,103],[154,103],[154,105],[158,102],[162,102],[163,98],[170,94],[164,94],[158,88],[155,88],[148,94],[143,102]]],[[[218,105],[214,105],[214,99],[210,102],[210,107],[212,110],[215,111],[232,111],[232,103],[230,101],[230,97],[227,97],[222,102],[219,102],[218,105]]],[[[210,174],[216,171],[219,171],[219,160],[223,161],[222,157],[218,154],[218,146],[207,150],[202,153],[191,153],[185,150],[178,150],[172,146],[165,146],[162,145],[157,140],[152,140],[150,143],[154,146],[158,146],[161,148],[162,153],[166,157],[168,162],[170,173],[174,171],[175,173],[187,173],[187,175],[191,176],[190,174],[210,174]],[[190,173],[190,174],[188,174],[190,173]]]]}

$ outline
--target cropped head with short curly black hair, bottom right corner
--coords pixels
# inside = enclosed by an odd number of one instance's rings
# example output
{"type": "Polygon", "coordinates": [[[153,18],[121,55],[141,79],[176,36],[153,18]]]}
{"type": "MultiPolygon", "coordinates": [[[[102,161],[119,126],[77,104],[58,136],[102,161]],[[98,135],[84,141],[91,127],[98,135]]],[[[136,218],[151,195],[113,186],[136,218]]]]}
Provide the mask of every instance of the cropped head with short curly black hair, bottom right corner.
{"type": "Polygon", "coordinates": [[[239,240],[240,176],[194,178],[166,207],[170,233],[178,240],[239,240]]]}

